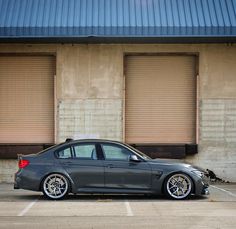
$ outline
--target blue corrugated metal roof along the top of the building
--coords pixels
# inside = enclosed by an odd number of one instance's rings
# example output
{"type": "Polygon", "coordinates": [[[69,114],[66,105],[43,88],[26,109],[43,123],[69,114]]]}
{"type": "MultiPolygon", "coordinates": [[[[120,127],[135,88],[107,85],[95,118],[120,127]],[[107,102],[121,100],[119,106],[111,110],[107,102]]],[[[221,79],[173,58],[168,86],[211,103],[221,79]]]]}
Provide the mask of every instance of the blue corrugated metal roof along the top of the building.
{"type": "Polygon", "coordinates": [[[0,0],[0,39],[236,37],[236,0],[0,0]]]}

